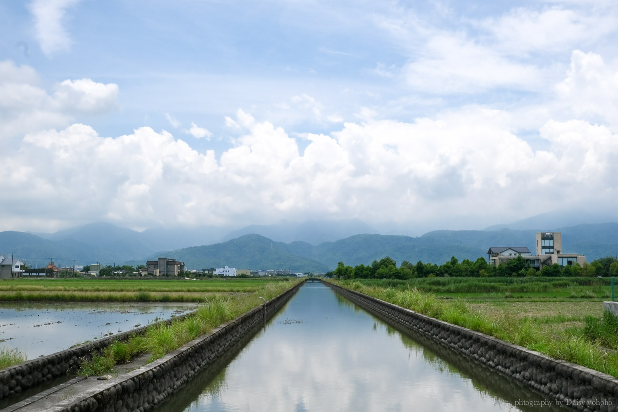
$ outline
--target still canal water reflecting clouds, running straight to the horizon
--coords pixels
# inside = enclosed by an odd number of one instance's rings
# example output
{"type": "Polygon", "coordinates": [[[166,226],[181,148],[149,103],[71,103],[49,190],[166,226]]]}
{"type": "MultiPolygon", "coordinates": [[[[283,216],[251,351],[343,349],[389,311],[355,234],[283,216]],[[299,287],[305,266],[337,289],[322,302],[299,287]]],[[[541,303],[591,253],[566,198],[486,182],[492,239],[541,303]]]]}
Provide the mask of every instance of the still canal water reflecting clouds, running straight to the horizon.
{"type": "Polygon", "coordinates": [[[410,336],[331,288],[306,284],[246,345],[155,410],[561,410],[554,400],[410,336]]]}

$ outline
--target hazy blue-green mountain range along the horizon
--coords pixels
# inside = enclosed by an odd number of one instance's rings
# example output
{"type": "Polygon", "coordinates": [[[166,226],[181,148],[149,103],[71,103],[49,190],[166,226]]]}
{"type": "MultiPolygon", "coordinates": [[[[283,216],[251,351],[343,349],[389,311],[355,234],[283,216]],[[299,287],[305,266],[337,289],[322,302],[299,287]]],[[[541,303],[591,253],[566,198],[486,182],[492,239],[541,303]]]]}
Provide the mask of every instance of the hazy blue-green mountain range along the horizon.
{"type": "MultiPolygon", "coordinates": [[[[290,238],[290,233],[303,235],[302,227],[312,229],[305,235],[315,242],[318,238],[334,237],[341,230],[368,230],[362,222],[344,221],[341,224],[307,222],[307,224],[284,224],[275,227],[253,227],[270,230],[278,238],[290,238]],[[328,232],[329,224],[335,227],[328,232]]],[[[208,241],[216,235],[222,238],[240,232],[216,232],[213,228],[187,231],[134,230],[111,224],[96,223],[83,227],[62,230],[53,234],[24,232],[0,232],[0,253],[14,254],[32,266],[42,266],[52,258],[56,264],[70,266],[72,259],[77,264],[142,264],[157,256],[180,259],[188,269],[221,267],[224,265],[250,269],[290,269],[293,272],[325,272],[334,269],[337,262],[356,265],[371,263],[373,259],[390,256],[398,263],[418,260],[444,263],[451,256],[458,259],[476,259],[486,256],[491,246],[527,246],[535,251],[535,233],[538,230],[434,230],[419,237],[402,235],[378,235],[360,233],[334,241],[313,244],[304,240],[281,242],[255,233],[242,234],[226,242],[211,245],[193,245],[192,242],[208,241]],[[185,247],[185,246],[188,247],[185,247]],[[167,247],[164,247],[167,246],[167,247]],[[171,247],[170,247],[171,246],[171,247]]],[[[243,230],[250,230],[245,228],[243,230]]],[[[588,261],[607,255],[618,254],[618,224],[581,224],[559,229],[565,252],[585,254],[588,261]]]]}

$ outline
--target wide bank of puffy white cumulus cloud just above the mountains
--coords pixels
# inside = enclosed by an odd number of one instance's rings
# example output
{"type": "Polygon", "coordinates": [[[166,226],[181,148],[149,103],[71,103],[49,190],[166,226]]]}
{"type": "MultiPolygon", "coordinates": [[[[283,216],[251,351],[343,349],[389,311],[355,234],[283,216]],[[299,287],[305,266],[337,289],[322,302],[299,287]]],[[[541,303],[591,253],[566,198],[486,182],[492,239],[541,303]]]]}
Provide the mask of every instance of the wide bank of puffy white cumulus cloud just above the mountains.
{"type": "Polygon", "coordinates": [[[282,128],[239,111],[234,122],[244,134],[219,159],[148,127],[103,138],[74,124],[28,134],[0,167],[18,192],[2,218],[23,215],[19,205],[37,196],[58,200],[46,206],[49,216],[142,227],[308,214],[373,222],[479,213],[491,219],[567,205],[574,193],[616,198],[617,185],[607,181],[618,172],[618,138],[606,127],[551,120],[540,130],[551,149],[533,151],[509,130],[511,121],[506,112],[468,107],[413,122],[345,123],[330,135],[308,133],[300,151],[282,128]]]}

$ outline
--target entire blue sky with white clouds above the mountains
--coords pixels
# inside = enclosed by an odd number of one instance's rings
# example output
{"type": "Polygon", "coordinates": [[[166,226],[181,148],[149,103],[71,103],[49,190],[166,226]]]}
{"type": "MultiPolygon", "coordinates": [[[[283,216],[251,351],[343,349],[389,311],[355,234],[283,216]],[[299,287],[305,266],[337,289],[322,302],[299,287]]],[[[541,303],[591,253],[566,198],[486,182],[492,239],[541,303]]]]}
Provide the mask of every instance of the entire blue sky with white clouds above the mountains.
{"type": "Polygon", "coordinates": [[[612,0],[0,2],[0,230],[618,200],[612,0]]]}

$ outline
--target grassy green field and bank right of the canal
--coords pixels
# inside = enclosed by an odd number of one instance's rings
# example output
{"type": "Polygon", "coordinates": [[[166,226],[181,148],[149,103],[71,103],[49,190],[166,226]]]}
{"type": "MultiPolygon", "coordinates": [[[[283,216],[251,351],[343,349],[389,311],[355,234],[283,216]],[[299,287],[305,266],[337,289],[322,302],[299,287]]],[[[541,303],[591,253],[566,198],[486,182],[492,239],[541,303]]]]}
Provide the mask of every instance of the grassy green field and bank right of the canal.
{"type": "MultiPolygon", "coordinates": [[[[459,286],[455,287],[455,290],[460,290],[465,284],[478,287],[476,282],[465,280],[457,282],[457,280],[455,283],[459,286]]],[[[584,279],[583,284],[579,286],[597,286],[595,282],[586,285],[588,280],[584,279]]],[[[492,281],[494,284],[495,280],[492,281]]],[[[484,303],[478,303],[478,299],[470,298],[465,288],[463,293],[440,296],[423,292],[419,288],[406,288],[405,282],[396,281],[393,284],[391,280],[384,281],[383,285],[376,280],[347,280],[334,283],[451,324],[539,351],[555,359],[563,359],[618,377],[618,316],[609,312],[602,313],[598,293],[594,294],[594,299],[597,300],[595,302],[575,302],[566,295],[559,303],[553,301],[556,293],[553,295],[548,293],[545,296],[546,301],[536,303],[529,301],[524,303],[527,296],[518,302],[504,298],[498,302],[489,297],[484,303]],[[393,285],[396,288],[392,287],[393,285]]],[[[517,285],[518,282],[506,280],[506,284],[517,285]]],[[[440,286],[447,287],[444,279],[441,279],[440,286]]],[[[562,287],[572,288],[574,285],[563,282],[562,287]]],[[[593,296],[593,293],[589,296],[593,296]]]]}

